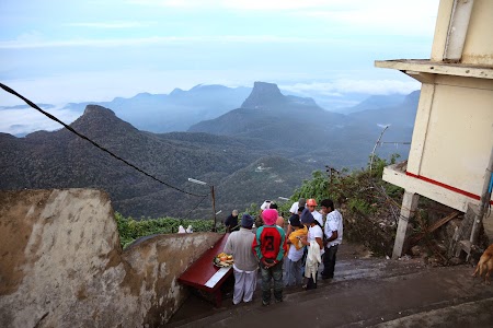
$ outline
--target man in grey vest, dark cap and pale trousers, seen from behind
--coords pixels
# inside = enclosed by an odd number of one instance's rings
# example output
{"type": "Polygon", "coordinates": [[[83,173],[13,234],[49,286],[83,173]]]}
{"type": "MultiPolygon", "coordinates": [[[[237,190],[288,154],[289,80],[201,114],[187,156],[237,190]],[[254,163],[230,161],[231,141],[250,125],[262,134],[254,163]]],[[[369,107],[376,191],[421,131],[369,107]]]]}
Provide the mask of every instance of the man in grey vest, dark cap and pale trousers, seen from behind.
{"type": "Polygon", "coordinates": [[[242,300],[245,303],[251,302],[256,288],[259,262],[252,251],[252,243],[255,238],[252,226],[253,218],[246,213],[243,214],[240,230],[232,232],[228,236],[228,241],[226,241],[223,251],[231,254],[234,259],[234,305],[239,304],[242,300]]]}

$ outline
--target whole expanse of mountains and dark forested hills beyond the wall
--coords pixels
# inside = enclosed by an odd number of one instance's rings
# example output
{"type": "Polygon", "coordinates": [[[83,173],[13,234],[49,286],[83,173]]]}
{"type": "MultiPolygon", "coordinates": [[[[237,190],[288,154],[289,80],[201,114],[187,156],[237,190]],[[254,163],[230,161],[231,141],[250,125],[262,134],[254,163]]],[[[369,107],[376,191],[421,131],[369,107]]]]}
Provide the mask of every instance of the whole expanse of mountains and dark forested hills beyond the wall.
{"type": "MultiPolygon", "coordinates": [[[[152,108],[152,104],[160,103],[159,98],[167,102],[174,97],[174,104],[179,103],[176,99],[186,104],[195,94],[213,104],[211,94],[227,93],[228,102],[233,103],[236,93],[244,92],[204,87],[175,90],[161,97],[141,94],[131,102],[152,108]]],[[[182,190],[199,195],[209,191],[207,186],[188,183],[188,177],[214,185],[217,210],[228,213],[264,199],[289,197],[313,169],[325,169],[325,165],[365,166],[382,125],[391,125],[386,137],[410,141],[417,98],[419,94],[412,93],[395,106],[342,115],[322,109],[311,98],[285,96],[276,84],[256,82],[240,105],[229,110],[211,109],[223,113],[192,125],[186,132],[141,131],[99,105],[84,105],[83,115],[70,126],[182,190]]],[[[137,112],[130,109],[131,102],[127,101],[114,99],[112,106],[118,107],[118,113],[137,112]]],[[[142,117],[148,115],[147,109],[139,113],[142,117]]],[[[213,116],[211,113],[208,115],[213,116]]],[[[152,116],[147,120],[152,120],[152,116]]],[[[146,177],[65,128],[37,131],[25,138],[0,133],[0,152],[2,190],[102,188],[110,192],[117,211],[135,218],[186,216],[200,201],[146,177]]],[[[381,148],[377,154],[386,157],[394,152],[406,155],[409,147],[381,148]]],[[[209,199],[190,215],[204,218],[210,216],[210,212],[209,199]]]]}

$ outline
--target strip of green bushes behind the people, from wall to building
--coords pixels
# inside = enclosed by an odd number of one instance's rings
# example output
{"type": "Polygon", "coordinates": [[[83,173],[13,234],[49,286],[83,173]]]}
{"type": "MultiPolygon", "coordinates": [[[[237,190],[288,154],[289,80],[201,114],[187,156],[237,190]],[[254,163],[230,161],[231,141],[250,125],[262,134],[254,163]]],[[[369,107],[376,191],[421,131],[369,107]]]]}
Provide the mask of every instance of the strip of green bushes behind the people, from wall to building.
{"type": "MultiPolygon", "coordinates": [[[[375,254],[388,254],[393,245],[393,237],[399,218],[399,203],[403,190],[381,179],[383,167],[394,164],[397,155],[390,162],[375,157],[371,169],[348,172],[328,168],[326,172],[316,171],[312,179],[305,180],[295,190],[291,200],[300,197],[314,198],[320,202],[324,198],[334,200],[335,207],[343,213],[344,238],[359,242],[375,254]]],[[[278,203],[278,210],[285,219],[289,216],[291,202],[278,203]]],[[[254,216],[259,214],[259,204],[252,203],[244,212],[254,216]]],[[[242,213],[240,213],[241,218],[242,213]]],[[[185,220],[174,218],[134,220],[116,213],[122,246],[125,248],[135,239],[153,234],[177,233],[179,226],[193,226],[194,232],[213,230],[211,220],[185,220]]],[[[218,231],[225,227],[218,223],[218,231]]]]}

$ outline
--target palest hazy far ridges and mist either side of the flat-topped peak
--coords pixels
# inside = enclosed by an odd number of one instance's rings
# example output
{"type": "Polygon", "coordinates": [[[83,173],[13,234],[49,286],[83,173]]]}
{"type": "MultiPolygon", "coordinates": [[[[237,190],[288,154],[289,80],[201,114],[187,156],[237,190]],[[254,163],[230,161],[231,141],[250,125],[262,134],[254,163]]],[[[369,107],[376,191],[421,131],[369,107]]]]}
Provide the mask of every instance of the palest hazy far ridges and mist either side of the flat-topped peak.
{"type": "MultiPolygon", "coordinates": [[[[276,87],[277,89],[277,87],[276,87]]],[[[283,96],[290,98],[293,103],[317,106],[320,104],[312,98],[301,97],[283,92],[283,96]]],[[[170,94],[140,93],[130,98],[116,97],[111,102],[83,102],[66,105],[37,104],[41,108],[59,117],[62,121],[70,122],[81,116],[87,105],[100,105],[112,109],[119,118],[128,121],[139,130],[156,133],[186,131],[193,125],[203,120],[209,120],[239,107],[249,107],[242,103],[252,92],[252,87],[228,87],[223,85],[196,85],[188,91],[173,90],[170,94]]],[[[347,94],[344,99],[356,103],[352,107],[334,107],[333,102],[319,95],[323,109],[351,114],[355,112],[394,107],[400,105],[405,95],[375,95],[347,94]],[[357,101],[363,99],[363,101],[357,101]]],[[[340,101],[342,102],[342,99],[340,101]]],[[[46,121],[42,126],[38,114],[27,105],[0,106],[0,131],[24,137],[39,129],[55,130],[59,126],[46,121]],[[30,112],[30,113],[27,113],[30,112]],[[15,121],[12,117],[25,117],[23,121],[15,121]],[[28,119],[33,116],[33,119],[28,119]]]]}

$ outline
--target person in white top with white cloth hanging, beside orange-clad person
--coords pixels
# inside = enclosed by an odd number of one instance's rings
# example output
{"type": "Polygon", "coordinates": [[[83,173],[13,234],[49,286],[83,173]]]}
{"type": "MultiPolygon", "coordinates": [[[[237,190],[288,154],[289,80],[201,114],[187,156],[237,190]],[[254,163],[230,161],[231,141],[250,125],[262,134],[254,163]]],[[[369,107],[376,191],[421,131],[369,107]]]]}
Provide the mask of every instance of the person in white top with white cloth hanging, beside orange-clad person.
{"type": "Polygon", "coordinates": [[[323,231],[319,223],[314,220],[310,210],[305,209],[301,213],[301,223],[308,227],[307,237],[301,238],[301,243],[307,246],[308,254],[305,263],[305,281],[303,289],[317,289],[317,274],[319,263],[323,256],[323,231]]]}

